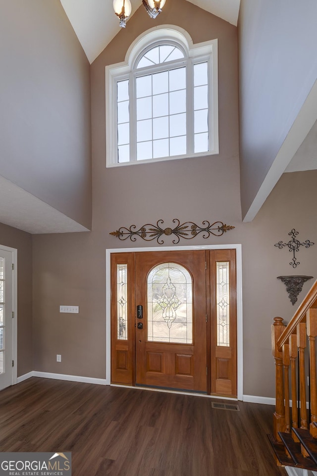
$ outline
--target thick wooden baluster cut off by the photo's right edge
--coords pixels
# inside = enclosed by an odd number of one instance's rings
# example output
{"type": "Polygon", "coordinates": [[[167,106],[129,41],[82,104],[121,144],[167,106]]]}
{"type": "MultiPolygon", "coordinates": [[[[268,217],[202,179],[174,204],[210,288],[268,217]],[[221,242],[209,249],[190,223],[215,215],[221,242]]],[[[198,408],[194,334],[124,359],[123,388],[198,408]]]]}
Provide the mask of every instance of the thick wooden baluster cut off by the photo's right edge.
{"type": "Polygon", "coordinates": [[[316,381],[316,336],[317,336],[317,309],[309,309],[306,313],[307,335],[309,339],[310,360],[310,389],[311,389],[311,424],[310,433],[317,438],[317,381],[316,381]]]}

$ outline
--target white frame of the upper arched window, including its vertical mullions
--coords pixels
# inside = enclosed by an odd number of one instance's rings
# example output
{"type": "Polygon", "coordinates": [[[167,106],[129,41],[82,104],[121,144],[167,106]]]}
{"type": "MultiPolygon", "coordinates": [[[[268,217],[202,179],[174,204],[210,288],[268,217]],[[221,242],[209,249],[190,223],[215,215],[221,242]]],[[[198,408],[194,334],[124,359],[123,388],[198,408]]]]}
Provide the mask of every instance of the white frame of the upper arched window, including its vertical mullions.
{"type": "MultiPolygon", "coordinates": [[[[150,49],[150,48],[148,48],[150,49]]],[[[174,25],[162,25],[160,27],[152,28],[151,30],[146,31],[140,35],[130,46],[127,51],[125,61],[122,63],[117,63],[113,65],[106,66],[106,167],[121,167],[126,165],[133,164],[144,164],[151,162],[160,162],[165,160],[174,160],[187,157],[200,157],[206,155],[213,155],[219,153],[219,140],[218,140],[218,57],[217,57],[217,40],[211,40],[204,43],[193,44],[189,34],[174,25]],[[187,52],[187,58],[176,60],[173,62],[161,63],[156,68],[153,67],[153,71],[147,68],[134,69],[136,61],[142,56],[144,50],[151,46],[155,46],[162,43],[172,43],[175,46],[178,46],[182,51],[187,52]],[[164,64],[166,64],[166,69],[171,65],[172,67],[177,67],[176,65],[181,66],[187,62],[191,63],[200,63],[208,60],[209,61],[209,148],[210,150],[206,152],[190,152],[184,155],[173,155],[168,157],[159,157],[154,159],[146,160],[136,160],[136,157],[131,156],[129,162],[117,162],[117,92],[116,92],[116,83],[118,80],[129,79],[129,91],[130,91],[130,121],[131,116],[133,117],[133,108],[135,97],[133,94],[134,88],[134,77],[137,75],[151,74],[154,73],[156,69],[164,69],[164,64]],[[132,94],[132,97],[131,97],[132,94]]],[[[187,68],[187,91],[194,90],[193,88],[193,74],[190,74],[190,69],[187,68]]],[[[187,95],[189,96],[189,95],[187,95]]],[[[187,97],[187,104],[189,102],[189,97],[187,97]]],[[[187,112],[191,112],[187,108],[187,112]]],[[[190,116],[190,114],[187,114],[190,116]]],[[[194,140],[194,125],[193,125],[193,114],[191,117],[187,118],[187,150],[192,148],[193,150],[193,140],[194,140]]],[[[130,145],[131,149],[135,148],[135,137],[136,137],[136,124],[132,124],[132,128],[135,128],[132,135],[132,144],[130,145]]]]}

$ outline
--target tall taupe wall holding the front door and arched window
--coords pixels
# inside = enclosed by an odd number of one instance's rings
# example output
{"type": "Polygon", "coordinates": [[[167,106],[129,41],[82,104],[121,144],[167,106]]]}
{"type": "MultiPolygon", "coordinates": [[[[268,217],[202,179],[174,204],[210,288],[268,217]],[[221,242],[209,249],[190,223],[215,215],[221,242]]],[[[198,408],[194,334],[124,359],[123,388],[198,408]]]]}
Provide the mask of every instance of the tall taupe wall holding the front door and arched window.
{"type": "MultiPolygon", "coordinates": [[[[130,43],[155,24],[143,8],[129,20],[92,65],[93,228],[89,234],[33,236],[34,370],[106,377],[106,248],[153,246],[119,241],[120,226],[173,218],[202,223],[222,220],[236,228],[221,238],[201,236],[182,245],[242,243],[244,394],[274,396],[270,324],[290,318],[292,306],[279,275],[317,276],[317,245],[289,253],[274,243],[296,228],[317,242],[315,172],[286,174],[254,222],[242,224],[238,157],[237,30],[193,4],[166,3],[159,23],[185,28],[194,42],[218,38],[219,155],[106,169],[105,66],[123,60],[130,43]],[[59,305],[78,305],[79,314],[60,314],[59,305]],[[56,363],[56,353],[62,362],[56,363]]],[[[167,237],[165,245],[172,245],[167,237]]],[[[159,247],[158,247],[159,249],[159,247]]],[[[307,290],[309,284],[304,286],[307,290]]],[[[304,292],[302,293],[304,295],[304,292]]],[[[301,296],[302,297],[302,296],[301,296]]]]}

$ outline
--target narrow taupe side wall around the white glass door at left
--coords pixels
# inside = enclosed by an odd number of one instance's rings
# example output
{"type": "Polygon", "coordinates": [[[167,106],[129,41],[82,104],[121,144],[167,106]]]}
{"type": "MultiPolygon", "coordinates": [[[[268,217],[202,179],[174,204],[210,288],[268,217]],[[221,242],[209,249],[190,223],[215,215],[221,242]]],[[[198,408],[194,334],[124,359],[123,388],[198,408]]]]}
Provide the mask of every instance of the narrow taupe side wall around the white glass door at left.
{"type": "Polygon", "coordinates": [[[32,335],[32,236],[0,223],[0,244],[16,248],[18,255],[17,322],[18,368],[17,375],[33,370],[32,335]]]}

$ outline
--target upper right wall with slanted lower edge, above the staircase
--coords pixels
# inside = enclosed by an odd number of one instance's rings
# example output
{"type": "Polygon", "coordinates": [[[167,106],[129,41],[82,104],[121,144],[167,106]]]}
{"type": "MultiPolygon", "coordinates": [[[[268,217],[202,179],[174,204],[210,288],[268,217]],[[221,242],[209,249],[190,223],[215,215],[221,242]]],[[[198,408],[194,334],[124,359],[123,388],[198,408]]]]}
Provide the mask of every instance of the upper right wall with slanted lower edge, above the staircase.
{"type": "Polygon", "coordinates": [[[315,0],[241,0],[238,31],[243,217],[317,79],[316,17],[315,0]]]}

